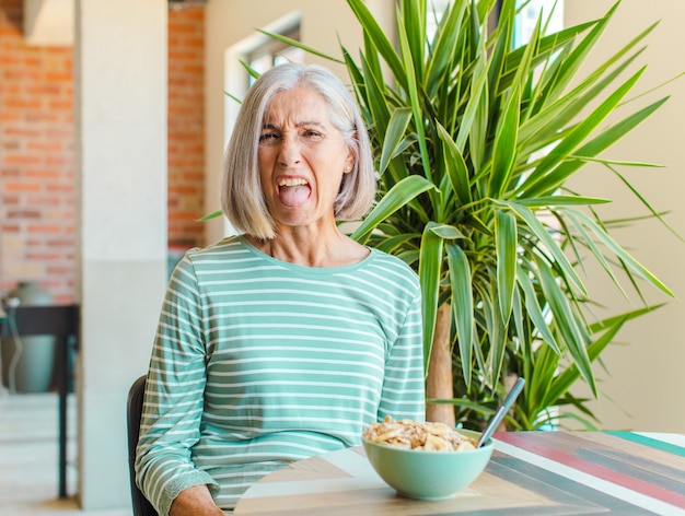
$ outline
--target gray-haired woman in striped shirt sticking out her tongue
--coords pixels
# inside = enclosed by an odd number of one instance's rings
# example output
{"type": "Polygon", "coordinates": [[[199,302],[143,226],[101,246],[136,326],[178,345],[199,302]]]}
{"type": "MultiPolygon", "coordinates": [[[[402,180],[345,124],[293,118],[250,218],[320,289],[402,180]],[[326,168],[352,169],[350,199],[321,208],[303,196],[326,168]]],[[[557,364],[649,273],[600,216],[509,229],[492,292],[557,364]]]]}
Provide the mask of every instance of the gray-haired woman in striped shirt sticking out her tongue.
{"type": "Polygon", "coordinates": [[[344,235],[375,196],[345,85],[283,64],[247,93],[222,208],[241,235],[187,253],[148,373],[138,483],[160,514],[223,514],[269,471],[423,419],[420,290],[344,235]]]}

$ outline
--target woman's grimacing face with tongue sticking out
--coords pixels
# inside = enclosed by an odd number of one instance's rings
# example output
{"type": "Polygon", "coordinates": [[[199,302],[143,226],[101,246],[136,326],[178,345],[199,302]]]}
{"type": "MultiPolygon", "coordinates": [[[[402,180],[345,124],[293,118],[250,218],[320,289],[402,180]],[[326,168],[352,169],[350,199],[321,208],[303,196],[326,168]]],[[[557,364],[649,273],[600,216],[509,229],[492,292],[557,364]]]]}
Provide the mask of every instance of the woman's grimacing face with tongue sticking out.
{"type": "Polygon", "coordinates": [[[258,164],[267,206],[279,227],[335,227],[333,202],[353,155],[318,92],[295,86],[274,95],[264,115],[258,164]]]}

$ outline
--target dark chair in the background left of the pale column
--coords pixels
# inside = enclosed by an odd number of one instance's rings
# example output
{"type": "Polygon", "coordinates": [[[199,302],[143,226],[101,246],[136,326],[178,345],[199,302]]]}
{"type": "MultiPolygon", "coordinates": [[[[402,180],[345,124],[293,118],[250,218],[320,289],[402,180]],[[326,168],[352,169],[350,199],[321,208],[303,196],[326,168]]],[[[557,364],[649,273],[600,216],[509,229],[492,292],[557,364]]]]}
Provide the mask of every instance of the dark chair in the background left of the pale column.
{"type": "MultiPolygon", "coordinates": [[[[5,309],[7,310],[7,309],[5,309]]],[[[67,493],[67,400],[71,390],[71,359],[79,348],[80,308],[79,305],[18,306],[8,312],[8,321],[0,324],[0,337],[20,337],[49,335],[55,337],[57,350],[57,391],[58,391],[58,491],[59,497],[67,493]],[[12,328],[11,328],[12,327],[12,328]]]]}

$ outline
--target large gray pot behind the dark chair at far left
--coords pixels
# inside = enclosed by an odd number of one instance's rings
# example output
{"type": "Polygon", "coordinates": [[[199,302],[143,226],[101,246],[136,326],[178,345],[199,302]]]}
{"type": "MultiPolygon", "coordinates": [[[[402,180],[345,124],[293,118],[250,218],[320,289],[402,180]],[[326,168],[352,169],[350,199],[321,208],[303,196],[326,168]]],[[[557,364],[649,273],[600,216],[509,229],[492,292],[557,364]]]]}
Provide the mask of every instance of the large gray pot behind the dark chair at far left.
{"type": "MultiPolygon", "coordinates": [[[[35,283],[22,282],[7,295],[16,297],[20,306],[45,306],[53,303],[51,296],[35,283]]],[[[12,337],[2,339],[0,361],[2,383],[14,392],[47,392],[53,385],[55,371],[55,337],[31,336],[16,338],[12,321],[12,308],[8,321],[12,337]]],[[[21,329],[19,329],[21,331],[21,329]]]]}

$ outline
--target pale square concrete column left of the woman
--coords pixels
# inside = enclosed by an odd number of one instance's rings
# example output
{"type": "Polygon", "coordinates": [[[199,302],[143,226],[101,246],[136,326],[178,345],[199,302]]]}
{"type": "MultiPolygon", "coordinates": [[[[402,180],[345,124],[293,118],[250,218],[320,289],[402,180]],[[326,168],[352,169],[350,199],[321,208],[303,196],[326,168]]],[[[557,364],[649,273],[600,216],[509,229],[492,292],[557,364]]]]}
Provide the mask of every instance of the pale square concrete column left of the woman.
{"type": "Polygon", "coordinates": [[[165,0],[76,2],[79,500],[129,505],[125,407],[166,283],[165,0]]]}

